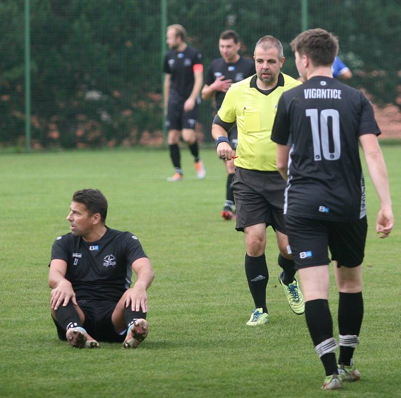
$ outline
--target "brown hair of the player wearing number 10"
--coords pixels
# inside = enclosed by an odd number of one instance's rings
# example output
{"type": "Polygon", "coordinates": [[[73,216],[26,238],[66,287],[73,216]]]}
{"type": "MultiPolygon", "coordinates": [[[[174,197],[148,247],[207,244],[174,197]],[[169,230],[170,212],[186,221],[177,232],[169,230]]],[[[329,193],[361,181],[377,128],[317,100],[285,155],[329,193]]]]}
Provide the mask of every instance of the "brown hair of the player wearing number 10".
{"type": "Polygon", "coordinates": [[[291,43],[292,51],[309,57],[314,66],[332,65],[338,53],[338,39],[324,29],[309,29],[291,43]]]}

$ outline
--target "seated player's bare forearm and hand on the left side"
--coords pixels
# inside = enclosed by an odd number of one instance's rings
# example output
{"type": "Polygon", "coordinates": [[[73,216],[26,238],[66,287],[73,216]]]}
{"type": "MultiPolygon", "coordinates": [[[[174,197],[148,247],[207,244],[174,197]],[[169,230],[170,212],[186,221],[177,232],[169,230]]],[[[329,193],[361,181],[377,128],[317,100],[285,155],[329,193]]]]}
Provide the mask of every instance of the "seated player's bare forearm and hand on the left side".
{"type": "Polygon", "coordinates": [[[49,270],[49,287],[52,289],[50,305],[53,310],[57,310],[60,305],[65,307],[70,300],[74,305],[78,305],[71,282],[65,278],[66,272],[67,263],[64,260],[52,260],[49,270]]]}

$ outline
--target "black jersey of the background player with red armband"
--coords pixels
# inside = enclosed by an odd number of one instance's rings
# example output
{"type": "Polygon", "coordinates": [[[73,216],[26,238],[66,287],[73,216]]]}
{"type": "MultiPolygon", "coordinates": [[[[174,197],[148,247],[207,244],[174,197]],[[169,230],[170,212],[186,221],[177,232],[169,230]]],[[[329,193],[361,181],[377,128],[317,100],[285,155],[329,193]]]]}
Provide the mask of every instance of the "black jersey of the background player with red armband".
{"type": "Polygon", "coordinates": [[[163,71],[171,74],[169,98],[185,101],[190,96],[195,82],[194,65],[202,65],[202,54],[195,48],[187,46],[184,51],[167,51],[163,71]]]}

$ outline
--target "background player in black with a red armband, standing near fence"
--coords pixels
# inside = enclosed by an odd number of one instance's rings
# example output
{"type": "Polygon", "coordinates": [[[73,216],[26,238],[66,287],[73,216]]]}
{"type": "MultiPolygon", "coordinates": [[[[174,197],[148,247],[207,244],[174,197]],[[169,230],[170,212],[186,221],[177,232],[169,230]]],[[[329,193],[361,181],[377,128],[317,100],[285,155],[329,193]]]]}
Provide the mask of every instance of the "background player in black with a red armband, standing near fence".
{"type": "Polygon", "coordinates": [[[185,43],[186,32],[181,25],[167,28],[169,51],[164,57],[164,112],[167,115],[167,143],[175,172],[168,181],[182,179],[179,153],[179,137],[189,145],[195,161],[196,175],[205,178],[205,166],[199,158],[195,124],[200,103],[199,93],[203,86],[202,55],[185,43]]]}

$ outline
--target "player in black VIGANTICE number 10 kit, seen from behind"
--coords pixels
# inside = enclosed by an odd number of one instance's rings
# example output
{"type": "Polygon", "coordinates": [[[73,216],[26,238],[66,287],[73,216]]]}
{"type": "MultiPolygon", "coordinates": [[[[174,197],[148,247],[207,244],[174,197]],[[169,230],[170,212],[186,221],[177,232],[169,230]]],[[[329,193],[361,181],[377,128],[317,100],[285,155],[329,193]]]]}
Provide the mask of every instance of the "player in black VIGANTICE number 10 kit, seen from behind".
{"type": "Polygon", "coordinates": [[[360,91],[332,77],[337,39],[313,29],[298,35],[291,47],[306,83],[280,98],[272,140],[278,144],[277,166],[285,179],[288,175],[287,233],[302,282],[306,323],[326,372],[322,388],[335,389],[360,378],[352,356],[363,317],[367,223],[358,143],[380,200],[380,238],[391,232],[394,219],[372,106],[360,91]],[[338,363],[328,306],[328,248],[339,291],[338,363]]]}

